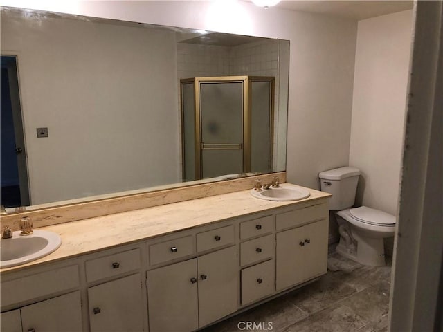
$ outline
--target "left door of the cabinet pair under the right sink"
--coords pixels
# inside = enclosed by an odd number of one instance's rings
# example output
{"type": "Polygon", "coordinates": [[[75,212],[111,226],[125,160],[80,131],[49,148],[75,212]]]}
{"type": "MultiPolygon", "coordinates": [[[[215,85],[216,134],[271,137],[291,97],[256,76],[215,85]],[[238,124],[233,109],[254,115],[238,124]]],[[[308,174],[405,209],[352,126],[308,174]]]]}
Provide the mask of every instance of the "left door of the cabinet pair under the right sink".
{"type": "Polygon", "coordinates": [[[276,241],[276,288],[280,291],[299,284],[304,279],[304,230],[300,227],[277,233],[276,241]]]}

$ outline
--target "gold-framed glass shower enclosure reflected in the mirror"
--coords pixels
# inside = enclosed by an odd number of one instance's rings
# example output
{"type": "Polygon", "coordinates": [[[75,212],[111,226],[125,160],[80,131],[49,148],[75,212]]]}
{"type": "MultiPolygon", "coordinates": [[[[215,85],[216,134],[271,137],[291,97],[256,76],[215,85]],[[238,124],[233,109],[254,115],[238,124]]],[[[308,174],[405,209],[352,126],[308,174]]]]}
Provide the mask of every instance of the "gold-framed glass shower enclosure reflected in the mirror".
{"type": "Polygon", "coordinates": [[[272,172],[274,77],[180,83],[183,181],[272,172]]]}

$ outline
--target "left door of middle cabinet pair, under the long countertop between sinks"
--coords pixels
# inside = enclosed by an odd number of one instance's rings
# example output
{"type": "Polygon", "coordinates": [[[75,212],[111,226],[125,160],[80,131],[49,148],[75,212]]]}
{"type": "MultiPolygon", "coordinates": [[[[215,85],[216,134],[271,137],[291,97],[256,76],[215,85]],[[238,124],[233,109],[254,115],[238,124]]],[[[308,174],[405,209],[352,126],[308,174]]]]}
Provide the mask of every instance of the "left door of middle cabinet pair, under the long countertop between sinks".
{"type": "Polygon", "coordinates": [[[197,259],[147,271],[147,303],[150,332],[196,330],[197,259]]]}

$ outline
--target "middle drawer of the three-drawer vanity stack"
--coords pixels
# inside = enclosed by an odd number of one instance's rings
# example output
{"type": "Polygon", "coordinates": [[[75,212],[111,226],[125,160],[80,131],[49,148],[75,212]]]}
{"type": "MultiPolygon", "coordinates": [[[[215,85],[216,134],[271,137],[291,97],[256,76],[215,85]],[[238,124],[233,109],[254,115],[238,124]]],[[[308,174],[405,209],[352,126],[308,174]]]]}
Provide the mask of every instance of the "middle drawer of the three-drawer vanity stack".
{"type": "Polygon", "coordinates": [[[274,256],[274,235],[249,240],[240,244],[240,263],[242,266],[252,264],[274,256]]]}

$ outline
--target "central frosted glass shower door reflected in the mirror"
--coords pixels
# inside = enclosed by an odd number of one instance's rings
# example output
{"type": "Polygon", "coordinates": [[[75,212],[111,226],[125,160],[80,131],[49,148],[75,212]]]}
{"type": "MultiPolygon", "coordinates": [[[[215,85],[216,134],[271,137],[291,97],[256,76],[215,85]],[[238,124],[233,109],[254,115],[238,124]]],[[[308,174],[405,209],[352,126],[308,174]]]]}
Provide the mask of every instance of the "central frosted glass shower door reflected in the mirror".
{"type": "Polygon", "coordinates": [[[201,177],[243,172],[244,80],[199,82],[201,177]]]}

